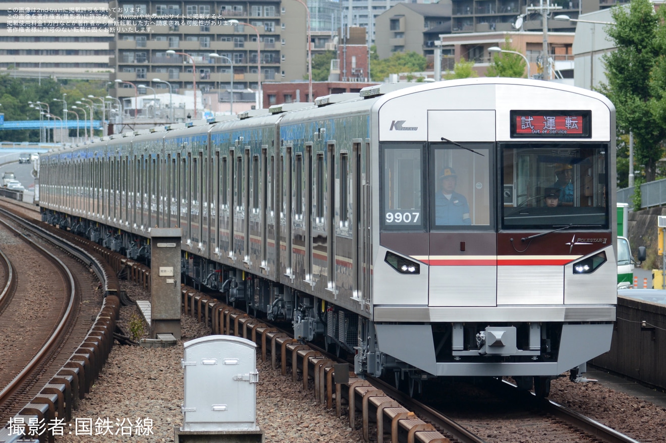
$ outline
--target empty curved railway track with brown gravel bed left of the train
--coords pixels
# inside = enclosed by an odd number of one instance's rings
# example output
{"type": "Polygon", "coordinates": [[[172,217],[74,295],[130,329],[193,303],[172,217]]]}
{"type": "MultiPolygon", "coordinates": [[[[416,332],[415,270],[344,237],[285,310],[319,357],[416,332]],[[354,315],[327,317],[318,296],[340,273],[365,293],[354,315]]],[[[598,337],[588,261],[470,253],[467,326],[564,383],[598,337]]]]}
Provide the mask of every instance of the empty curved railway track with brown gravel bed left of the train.
{"type": "Polygon", "coordinates": [[[47,424],[71,416],[111,350],[119,301],[101,260],[23,219],[25,209],[19,217],[15,205],[0,206],[0,249],[11,263],[0,314],[0,420],[13,424],[0,441],[13,442],[25,432],[43,438],[47,424]]]}

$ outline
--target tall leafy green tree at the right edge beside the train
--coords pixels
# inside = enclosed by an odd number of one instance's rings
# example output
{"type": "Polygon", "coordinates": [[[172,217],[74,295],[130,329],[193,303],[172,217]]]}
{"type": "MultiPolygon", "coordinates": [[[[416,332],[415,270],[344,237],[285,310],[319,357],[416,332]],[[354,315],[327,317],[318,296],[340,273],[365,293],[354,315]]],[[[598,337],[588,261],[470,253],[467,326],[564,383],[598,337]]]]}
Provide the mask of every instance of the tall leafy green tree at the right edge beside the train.
{"type": "Polygon", "coordinates": [[[608,83],[599,91],[617,109],[618,131],[633,132],[635,161],[653,181],[666,139],[666,8],[655,12],[651,1],[633,0],[611,15],[615,23],[606,32],[617,51],[603,56],[608,83]]]}

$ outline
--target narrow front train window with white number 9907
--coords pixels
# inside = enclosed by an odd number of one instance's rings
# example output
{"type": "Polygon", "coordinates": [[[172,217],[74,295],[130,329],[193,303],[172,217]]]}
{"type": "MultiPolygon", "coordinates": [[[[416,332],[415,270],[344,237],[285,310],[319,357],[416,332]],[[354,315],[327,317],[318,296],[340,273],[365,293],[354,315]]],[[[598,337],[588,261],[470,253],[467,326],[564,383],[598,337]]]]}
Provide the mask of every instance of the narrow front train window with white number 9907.
{"type": "Polygon", "coordinates": [[[423,230],[423,145],[382,145],[380,194],[382,228],[423,230]]]}

